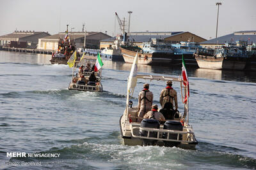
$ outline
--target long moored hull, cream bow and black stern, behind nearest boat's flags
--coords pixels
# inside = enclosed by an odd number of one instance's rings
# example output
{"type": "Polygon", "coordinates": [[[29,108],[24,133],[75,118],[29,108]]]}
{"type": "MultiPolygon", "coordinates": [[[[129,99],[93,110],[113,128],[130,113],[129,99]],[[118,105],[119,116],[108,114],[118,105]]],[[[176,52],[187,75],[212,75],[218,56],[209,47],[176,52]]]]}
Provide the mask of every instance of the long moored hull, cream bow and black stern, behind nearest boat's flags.
{"type": "MultiPolygon", "coordinates": [[[[137,52],[121,48],[125,62],[132,63],[137,52]]],[[[197,63],[193,54],[184,54],[184,60],[187,65],[196,66],[197,63]]],[[[138,52],[138,64],[164,65],[164,66],[182,66],[182,55],[175,53],[141,53],[138,52]]]]}

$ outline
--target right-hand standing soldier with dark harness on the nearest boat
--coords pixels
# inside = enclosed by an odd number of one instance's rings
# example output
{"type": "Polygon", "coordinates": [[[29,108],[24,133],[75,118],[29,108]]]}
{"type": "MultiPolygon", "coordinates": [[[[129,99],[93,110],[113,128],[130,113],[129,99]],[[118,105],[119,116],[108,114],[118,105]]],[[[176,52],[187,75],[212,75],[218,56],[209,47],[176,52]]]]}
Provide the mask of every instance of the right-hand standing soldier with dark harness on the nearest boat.
{"type": "Polygon", "coordinates": [[[178,110],[178,102],[177,102],[177,92],[172,88],[172,81],[167,81],[166,83],[167,87],[162,90],[160,94],[160,104],[162,108],[164,108],[164,105],[167,103],[172,105],[173,109],[173,100],[175,102],[175,110],[178,110]]]}

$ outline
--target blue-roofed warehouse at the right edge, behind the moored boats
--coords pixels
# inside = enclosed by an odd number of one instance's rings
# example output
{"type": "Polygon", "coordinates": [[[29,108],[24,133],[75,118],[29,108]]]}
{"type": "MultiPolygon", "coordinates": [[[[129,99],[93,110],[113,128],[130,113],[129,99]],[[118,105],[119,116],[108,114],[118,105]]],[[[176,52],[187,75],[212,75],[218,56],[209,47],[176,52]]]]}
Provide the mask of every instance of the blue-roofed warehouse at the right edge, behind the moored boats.
{"type": "Polygon", "coordinates": [[[248,44],[256,43],[256,31],[237,31],[232,34],[204,41],[200,43],[200,45],[207,48],[214,48],[215,46],[223,46],[225,43],[237,41],[247,41],[248,44]]]}

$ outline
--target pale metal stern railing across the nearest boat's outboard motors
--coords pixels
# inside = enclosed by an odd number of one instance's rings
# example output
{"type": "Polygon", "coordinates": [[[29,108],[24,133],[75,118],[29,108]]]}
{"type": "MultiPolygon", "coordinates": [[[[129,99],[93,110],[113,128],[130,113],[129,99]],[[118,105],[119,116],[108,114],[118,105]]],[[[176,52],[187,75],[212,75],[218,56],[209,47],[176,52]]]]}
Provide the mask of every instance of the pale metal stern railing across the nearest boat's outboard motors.
{"type": "Polygon", "coordinates": [[[154,129],[154,128],[148,128],[148,127],[132,127],[131,131],[132,137],[133,138],[140,138],[140,139],[152,139],[152,140],[161,140],[161,141],[174,141],[174,142],[184,142],[184,143],[194,143],[193,141],[193,135],[194,132],[184,132],[184,131],[173,131],[173,130],[168,130],[168,129],[154,129]],[[134,134],[134,130],[139,129],[140,131],[147,131],[147,136],[138,136],[134,134]],[[150,132],[157,132],[157,138],[154,137],[149,137],[150,132]],[[163,133],[167,133],[166,138],[160,138],[160,135],[163,133]],[[177,134],[177,139],[169,139],[170,134],[177,134]],[[180,140],[180,136],[182,134],[187,134],[188,138],[186,140],[180,140]]]}

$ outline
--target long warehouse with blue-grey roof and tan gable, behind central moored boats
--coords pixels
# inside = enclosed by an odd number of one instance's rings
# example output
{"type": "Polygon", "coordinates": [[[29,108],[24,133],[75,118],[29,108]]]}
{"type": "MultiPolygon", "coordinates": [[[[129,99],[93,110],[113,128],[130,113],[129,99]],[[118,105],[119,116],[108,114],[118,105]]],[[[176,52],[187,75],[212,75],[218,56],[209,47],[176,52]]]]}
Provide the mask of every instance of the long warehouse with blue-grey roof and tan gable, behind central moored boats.
{"type": "MultiPolygon", "coordinates": [[[[191,32],[176,31],[176,32],[130,32],[127,34],[129,40],[134,42],[134,45],[142,46],[143,42],[150,41],[151,38],[163,39],[168,43],[180,43],[180,41],[191,41],[200,43],[206,39],[196,36],[191,32]]],[[[109,48],[113,45],[117,37],[103,39],[100,41],[100,48],[109,48]]]]}

